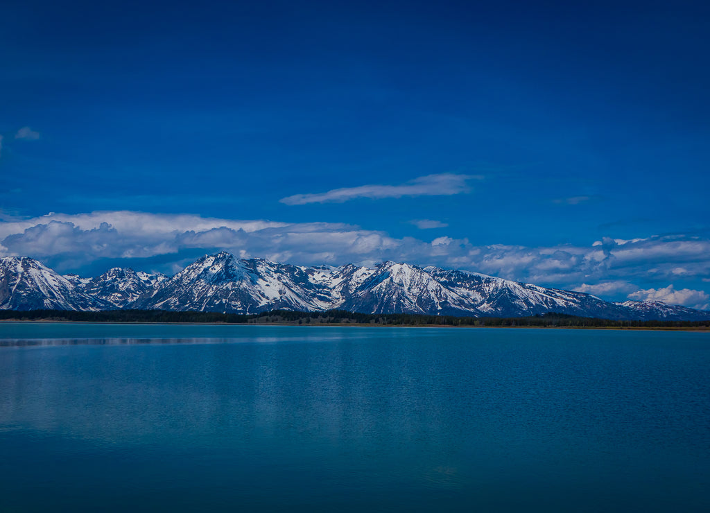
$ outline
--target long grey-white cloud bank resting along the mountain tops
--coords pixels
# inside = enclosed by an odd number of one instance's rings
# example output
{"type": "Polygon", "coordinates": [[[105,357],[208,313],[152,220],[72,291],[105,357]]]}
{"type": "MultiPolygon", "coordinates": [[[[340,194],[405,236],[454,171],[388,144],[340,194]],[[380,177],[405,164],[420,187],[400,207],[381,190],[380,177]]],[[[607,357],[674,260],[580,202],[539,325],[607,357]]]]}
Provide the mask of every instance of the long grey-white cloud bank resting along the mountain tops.
{"type": "MultiPolygon", "coordinates": [[[[393,238],[383,231],[348,224],[135,211],[52,213],[0,222],[0,255],[31,256],[61,272],[102,259],[158,256],[177,270],[186,263],[185,257],[178,255],[185,250],[227,250],[242,258],[297,265],[398,260],[577,289],[604,299],[659,299],[691,307],[708,303],[708,294],[701,289],[708,282],[705,280],[710,280],[710,240],[692,235],[603,238],[589,246],[528,247],[475,246],[466,238],[445,235],[431,241],[393,238]],[[681,282],[684,287],[697,283],[698,289],[675,288],[681,282]]],[[[131,265],[130,261],[125,265],[131,265]]]]}

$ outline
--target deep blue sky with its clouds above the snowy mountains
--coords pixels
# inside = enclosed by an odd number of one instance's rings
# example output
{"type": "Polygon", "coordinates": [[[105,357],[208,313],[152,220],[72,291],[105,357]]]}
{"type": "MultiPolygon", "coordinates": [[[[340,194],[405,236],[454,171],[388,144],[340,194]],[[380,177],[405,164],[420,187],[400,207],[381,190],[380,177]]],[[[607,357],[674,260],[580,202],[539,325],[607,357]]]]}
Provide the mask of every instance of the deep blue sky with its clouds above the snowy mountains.
{"type": "Polygon", "coordinates": [[[709,308],[710,6],[575,4],[12,2],[0,252],[390,258],[709,308]]]}

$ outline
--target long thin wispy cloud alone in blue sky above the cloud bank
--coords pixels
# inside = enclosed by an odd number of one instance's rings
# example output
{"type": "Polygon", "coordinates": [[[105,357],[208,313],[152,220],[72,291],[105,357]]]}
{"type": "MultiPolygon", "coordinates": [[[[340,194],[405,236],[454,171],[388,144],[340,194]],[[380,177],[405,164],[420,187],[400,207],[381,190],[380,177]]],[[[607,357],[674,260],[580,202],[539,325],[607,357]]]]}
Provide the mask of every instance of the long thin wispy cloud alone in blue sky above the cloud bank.
{"type": "Polygon", "coordinates": [[[401,198],[404,196],[449,196],[470,192],[468,180],[481,180],[480,175],[454,175],[442,173],[418,177],[399,185],[369,184],[359,187],[332,189],[317,194],[294,194],[280,199],[287,205],[305,205],[309,203],[342,203],[351,199],[401,198]]]}

